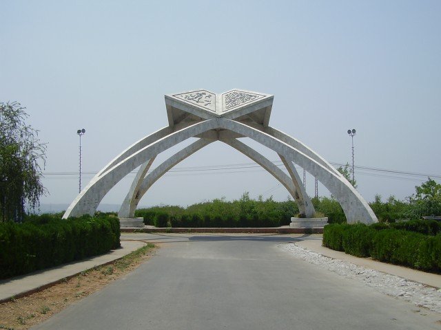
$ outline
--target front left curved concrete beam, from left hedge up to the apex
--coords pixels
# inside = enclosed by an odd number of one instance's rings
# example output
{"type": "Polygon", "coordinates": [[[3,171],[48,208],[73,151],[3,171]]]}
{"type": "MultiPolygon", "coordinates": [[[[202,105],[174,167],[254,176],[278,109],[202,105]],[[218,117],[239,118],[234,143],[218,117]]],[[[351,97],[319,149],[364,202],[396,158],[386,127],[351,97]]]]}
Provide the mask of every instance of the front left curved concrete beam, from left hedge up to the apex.
{"type": "Polygon", "coordinates": [[[83,214],[93,215],[103,197],[115,186],[125,175],[136,167],[172,146],[187,140],[189,137],[201,134],[210,129],[218,128],[218,119],[209,119],[185,127],[174,133],[162,137],[156,142],[144,146],[139,151],[132,153],[118,164],[109,168],[101,175],[96,175],[83,191],[72,201],[63,219],[68,217],[79,217],[83,214]]]}

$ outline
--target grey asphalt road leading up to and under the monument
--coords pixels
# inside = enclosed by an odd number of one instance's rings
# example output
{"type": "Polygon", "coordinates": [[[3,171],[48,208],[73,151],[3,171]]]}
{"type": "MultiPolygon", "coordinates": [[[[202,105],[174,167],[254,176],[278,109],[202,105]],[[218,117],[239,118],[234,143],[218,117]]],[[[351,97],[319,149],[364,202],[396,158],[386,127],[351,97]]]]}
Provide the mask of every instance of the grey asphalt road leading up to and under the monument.
{"type": "Polygon", "coordinates": [[[314,236],[150,235],[155,256],[32,329],[441,329],[439,314],[296,259],[314,236]]]}

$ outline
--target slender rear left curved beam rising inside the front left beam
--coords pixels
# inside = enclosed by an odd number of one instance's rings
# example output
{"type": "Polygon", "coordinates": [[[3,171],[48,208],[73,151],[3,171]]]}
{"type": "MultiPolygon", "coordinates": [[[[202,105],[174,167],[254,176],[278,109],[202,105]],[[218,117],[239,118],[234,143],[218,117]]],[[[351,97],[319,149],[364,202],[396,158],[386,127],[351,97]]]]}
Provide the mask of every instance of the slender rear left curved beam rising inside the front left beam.
{"type": "Polygon", "coordinates": [[[201,150],[204,146],[214,142],[214,140],[199,139],[193,142],[189,146],[186,146],[181,151],[178,151],[172,157],[168,158],[161,165],[152,170],[152,173],[147,175],[139,184],[136,194],[127,194],[123,201],[123,205],[118,213],[120,218],[133,218],[135,216],[135,210],[138,206],[139,201],[144,196],[145,192],[150,189],[150,187],[158,181],[165,173],[167,173],[173,166],[182,162],[185,158],[196,153],[196,151],[201,150]]]}

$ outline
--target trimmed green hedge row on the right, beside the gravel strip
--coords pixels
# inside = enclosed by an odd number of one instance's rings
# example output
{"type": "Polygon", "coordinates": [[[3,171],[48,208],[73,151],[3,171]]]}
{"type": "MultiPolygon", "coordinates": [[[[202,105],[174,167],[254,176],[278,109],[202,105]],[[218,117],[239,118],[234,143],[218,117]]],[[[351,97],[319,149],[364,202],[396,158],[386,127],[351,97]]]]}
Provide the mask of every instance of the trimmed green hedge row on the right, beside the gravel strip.
{"type": "Polygon", "coordinates": [[[378,261],[418,270],[441,271],[441,233],[425,235],[409,230],[383,229],[378,225],[336,223],[325,226],[323,245],[354,256],[371,256],[378,261]]]}

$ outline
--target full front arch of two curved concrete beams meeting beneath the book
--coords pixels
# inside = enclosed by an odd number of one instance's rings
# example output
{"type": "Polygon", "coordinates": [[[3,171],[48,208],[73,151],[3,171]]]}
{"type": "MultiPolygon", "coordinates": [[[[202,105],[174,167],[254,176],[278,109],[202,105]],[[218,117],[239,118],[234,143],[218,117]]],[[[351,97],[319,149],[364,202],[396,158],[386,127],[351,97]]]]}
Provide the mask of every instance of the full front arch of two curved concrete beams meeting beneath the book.
{"type": "MultiPolygon", "coordinates": [[[[362,221],[365,223],[372,223],[378,221],[375,214],[366,201],[358,194],[358,192],[349,184],[349,182],[338,173],[335,168],[328,168],[327,163],[323,164],[323,160],[314,151],[305,149],[306,146],[300,145],[303,148],[299,151],[294,146],[289,145],[287,142],[283,142],[278,138],[264,133],[259,129],[255,129],[246,124],[236,122],[234,120],[228,120],[225,118],[209,119],[203,122],[198,122],[190,126],[186,126],[184,129],[174,131],[165,137],[154,140],[153,143],[147,146],[141,144],[133,147],[136,150],[132,153],[129,149],[121,153],[116,160],[111,162],[109,168],[100,172],[100,175],[96,175],[79,194],[74,201],[72,201],[70,207],[63,215],[63,218],[76,217],[83,214],[94,214],[101,199],[107,194],[107,192],[119,182],[125,175],[130,173],[131,170],[143,164],[146,159],[150,159],[158,153],[165,151],[189,137],[204,133],[212,129],[227,129],[234,131],[240,135],[245,135],[252,138],[256,142],[271,148],[279,155],[283,155],[291,162],[295,162],[305,168],[309,173],[314,175],[328,190],[336,197],[340,202],[342,209],[345,212],[347,221],[353,223],[356,221],[362,221]],[[137,150],[139,148],[139,150],[137,150]],[[127,156],[128,155],[128,156],[127,156]],[[125,157],[127,156],[127,157],[125,157]],[[311,157],[310,157],[311,156],[311,157]],[[123,159],[123,157],[125,157],[123,159]],[[121,160],[122,159],[122,160],[121,160]],[[117,164],[114,162],[119,161],[117,164]]],[[[156,132],[158,133],[158,132],[156,132]]],[[[163,132],[165,134],[165,132],[163,132]]],[[[274,132],[273,132],[274,133],[274,132]]],[[[277,133],[277,132],[276,132],[277,133]]],[[[289,141],[289,137],[283,136],[283,133],[277,133],[285,141],[289,141]]],[[[151,136],[151,135],[149,135],[151,136]]],[[[161,136],[161,134],[159,134],[161,136]]],[[[292,141],[291,141],[292,143],[292,141]]]]}

